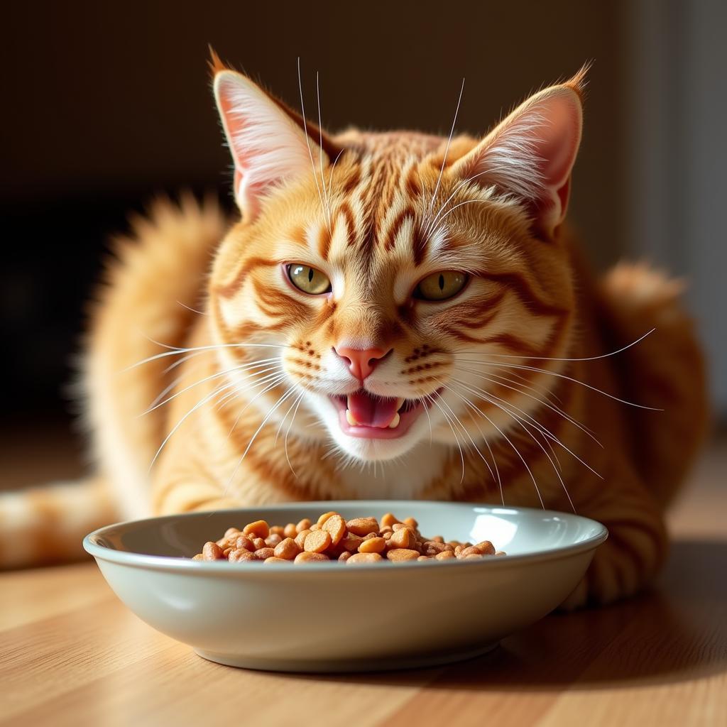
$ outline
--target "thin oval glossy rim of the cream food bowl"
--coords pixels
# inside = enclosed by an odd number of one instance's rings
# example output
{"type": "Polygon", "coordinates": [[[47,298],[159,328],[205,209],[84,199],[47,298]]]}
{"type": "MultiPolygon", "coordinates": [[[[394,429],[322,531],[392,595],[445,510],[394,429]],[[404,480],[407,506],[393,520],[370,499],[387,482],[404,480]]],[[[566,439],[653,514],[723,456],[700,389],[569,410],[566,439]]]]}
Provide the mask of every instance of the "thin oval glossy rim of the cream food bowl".
{"type": "MultiPolygon", "coordinates": [[[[324,507],[326,512],[335,508],[345,508],[351,505],[357,507],[365,506],[371,507],[372,509],[384,506],[385,511],[402,509],[407,505],[416,507],[442,507],[443,505],[461,507],[462,509],[475,510],[475,512],[481,512],[483,514],[500,514],[500,515],[527,515],[537,514],[540,517],[555,517],[563,520],[576,520],[582,521],[583,524],[590,523],[595,529],[595,533],[589,537],[577,542],[571,543],[570,545],[561,545],[556,547],[545,548],[544,550],[535,550],[532,553],[519,553],[518,555],[507,555],[505,558],[483,558],[477,561],[430,561],[427,563],[419,561],[405,561],[403,563],[361,563],[356,566],[355,569],[342,569],[340,563],[337,561],[321,562],[321,563],[309,563],[302,571],[300,566],[295,566],[294,563],[277,563],[275,568],[260,568],[259,563],[246,563],[242,561],[240,563],[229,563],[228,561],[193,561],[191,558],[182,558],[176,555],[149,555],[147,553],[134,553],[129,550],[113,550],[111,548],[99,545],[96,540],[99,537],[103,537],[105,533],[113,529],[117,529],[120,526],[138,526],[141,523],[164,523],[168,521],[178,520],[179,518],[200,518],[204,515],[209,515],[205,511],[195,513],[179,513],[177,515],[158,515],[153,518],[140,518],[137,520],[121,521],[118,523],[112,523],[111,525],[103,526],[95,531],[89,533],[83,539],[84,550],[92,555],[97,561],[103,560],[110,563],[119,563],[125,566],[135,566],[144,569],[151,569],[157,571],[190,571],[190,573],[198,574],[214,574],[214,573],[225,573],[225,574],[239,574],[245,573],[250,574],[252,572],[256,574],[275,574],[275,573],[289,573],[294,571],[297,574],[301,572],[305,573],[330,573],[336,572],[349,572],[349,571],[368,571],[376,570],[381,572],[382,566],[396,566],[396,570],[417,568],[421,569],[422,566],[425,568],[460,568],[460,567],[486,567],[486,568],[500,568],[505,567],[507,563],[538,563],[540,561],[550,561],[558,558],[566,558],[570,555],[577,555],[584,553],[589,550],[595,550],[596,547],[601,545],[608,538],[608,529],[603,523],[600,523],[592,518],[586,518],[583,515],[577,515],[575,513],[563,513],[558,510],[541,510],[537,507],[502,507],[500,505],[484,504],[478,502],[449,502],[449,501],[438,501],[438,500],[323,500],[323,501],[311,501],[311,502],[284,502],[275,503],[271,505],[258,505],[257,507],[235,507],[224,512],[229,513],[260,513],[260,510],[268,510],[275,512],[276,510],[289,510],[291,507],[305,507],[310,509],[318,509],[324,507]]],[[[222,511],[217,511],[222,512],[222,511]]]]}

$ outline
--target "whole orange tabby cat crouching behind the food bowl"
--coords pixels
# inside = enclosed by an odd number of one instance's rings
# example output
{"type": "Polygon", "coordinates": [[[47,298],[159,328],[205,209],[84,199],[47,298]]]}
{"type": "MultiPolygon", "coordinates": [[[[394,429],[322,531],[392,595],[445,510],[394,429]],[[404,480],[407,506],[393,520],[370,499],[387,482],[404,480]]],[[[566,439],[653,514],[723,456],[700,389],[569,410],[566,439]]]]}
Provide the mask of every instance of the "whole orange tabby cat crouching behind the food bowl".
{"type": "Polygon", "coordinates": [[[582,84],[482,140],[332,137],[215,58],[241,219],[159,203],[121,244],[84,371],[101,478],[5,496],[0,560],[149,513],[466,499],[606,523],[568,605],[635,593],[704,430],[702,355],[678,284],[595,280],[563,226],[582,84]]]}

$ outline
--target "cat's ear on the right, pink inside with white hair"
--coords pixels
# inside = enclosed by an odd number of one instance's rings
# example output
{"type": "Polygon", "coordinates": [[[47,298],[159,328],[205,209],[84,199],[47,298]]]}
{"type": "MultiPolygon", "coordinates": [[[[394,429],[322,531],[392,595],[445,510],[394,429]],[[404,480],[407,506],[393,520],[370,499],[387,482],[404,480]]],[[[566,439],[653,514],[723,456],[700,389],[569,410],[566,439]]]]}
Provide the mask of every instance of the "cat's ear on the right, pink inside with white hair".
{"type": "Polygon", "coordinates": [[[531,96],[451,167],[457,177],[518,198],[539,237],[553,238],[566,216],[586,71],[531,96]]]}

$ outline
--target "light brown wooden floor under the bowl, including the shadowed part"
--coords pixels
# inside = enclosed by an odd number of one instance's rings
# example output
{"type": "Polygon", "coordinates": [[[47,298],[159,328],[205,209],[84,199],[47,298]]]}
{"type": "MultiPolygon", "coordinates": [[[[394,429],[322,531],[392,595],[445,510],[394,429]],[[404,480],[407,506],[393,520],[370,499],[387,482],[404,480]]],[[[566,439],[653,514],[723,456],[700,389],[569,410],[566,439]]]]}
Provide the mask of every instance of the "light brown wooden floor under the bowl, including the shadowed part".
{"type": "Polygon", "coordinates": [[[727,725],[726,474],[721,438],[670,516],[675,542],[651,593],[547,616],[487,656],[431,670],[222,667],[140,622],[93,563],[0,575],[0,725],[727,725]]]}

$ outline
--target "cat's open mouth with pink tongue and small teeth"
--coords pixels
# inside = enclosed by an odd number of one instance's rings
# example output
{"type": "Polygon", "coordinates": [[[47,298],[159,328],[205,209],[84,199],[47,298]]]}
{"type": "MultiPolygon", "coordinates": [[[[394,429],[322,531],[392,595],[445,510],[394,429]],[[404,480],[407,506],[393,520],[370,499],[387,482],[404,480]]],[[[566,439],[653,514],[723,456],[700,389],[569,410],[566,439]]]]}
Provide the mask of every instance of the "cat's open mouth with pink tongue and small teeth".
{"type": "Polygon", "coordinates": [[[364,389],[348,396],[331,396],[343,433],[367,439],[393,439],[406,434],[422,411],[432,406],[436,391],[427,401],[385,398],[364,389]]]}

